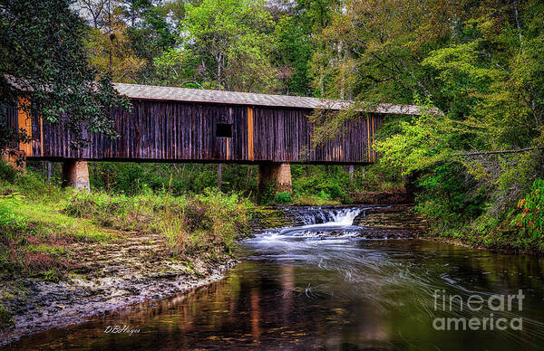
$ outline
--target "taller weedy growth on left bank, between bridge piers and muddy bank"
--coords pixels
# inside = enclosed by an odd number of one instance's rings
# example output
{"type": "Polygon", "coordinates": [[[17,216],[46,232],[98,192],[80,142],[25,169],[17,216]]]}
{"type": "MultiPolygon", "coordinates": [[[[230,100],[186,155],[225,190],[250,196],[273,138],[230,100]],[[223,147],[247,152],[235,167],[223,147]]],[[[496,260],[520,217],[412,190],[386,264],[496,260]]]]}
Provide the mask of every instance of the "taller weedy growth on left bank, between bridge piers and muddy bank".
{"type": "Polygon", "coordinates": [[[248,231],[252,204],[238,194],[207,189],[204,194],[76,193],[64,212],[121,231],[160,232],[173,255],[223,247],[230,251],[248,231]]]}

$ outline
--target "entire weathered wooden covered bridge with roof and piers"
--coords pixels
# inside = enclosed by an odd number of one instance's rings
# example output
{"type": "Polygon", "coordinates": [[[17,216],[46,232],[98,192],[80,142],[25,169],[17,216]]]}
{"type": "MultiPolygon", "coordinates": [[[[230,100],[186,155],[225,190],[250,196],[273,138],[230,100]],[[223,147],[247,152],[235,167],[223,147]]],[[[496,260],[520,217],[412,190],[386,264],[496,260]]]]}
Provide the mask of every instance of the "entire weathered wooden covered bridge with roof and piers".
{"type": "Polygon", "coordinates": [[[24,128],[32,137],[31,144],[21,144],[19,149],[28,159],[62,161],[65,178],[73,185],[88,186],[86,161],[107,160],[258,164],[261,181],[275,178],[279,188],[286,188],[287,183],[290,185],[290,163],[375,162],[378,156],[372,142],[384,115],[420,113],[415,106],[380,104],[361,111],[365,112],[361,119],[347,122],[341,134],[313,148],[314,126],[308,115],[316,109],[350,109],[349,101],[121,83],[114,86],[133,106],[130,112],[111,110],[118,138],[89,133],[83,136],[91,140],[89,146],[74,149],[70,133],[62,125],[27,116],[15,107],[8,111],[9,124],[24,128]]]}

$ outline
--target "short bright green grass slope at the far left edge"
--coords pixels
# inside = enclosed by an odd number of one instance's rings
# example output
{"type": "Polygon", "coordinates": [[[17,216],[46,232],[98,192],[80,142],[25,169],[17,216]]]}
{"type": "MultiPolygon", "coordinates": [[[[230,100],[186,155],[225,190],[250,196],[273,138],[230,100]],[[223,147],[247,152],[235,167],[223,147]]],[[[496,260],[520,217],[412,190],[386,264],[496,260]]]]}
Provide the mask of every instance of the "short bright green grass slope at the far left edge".
{"type": "Polygon", "coordinates": [[[66,214],[63,208],[73,195],[30,171],[7,179],[0,174],[0,273],[47,278],[50,270],[70,267],[67,244],[119,237],[90,219],[66,214]]]}

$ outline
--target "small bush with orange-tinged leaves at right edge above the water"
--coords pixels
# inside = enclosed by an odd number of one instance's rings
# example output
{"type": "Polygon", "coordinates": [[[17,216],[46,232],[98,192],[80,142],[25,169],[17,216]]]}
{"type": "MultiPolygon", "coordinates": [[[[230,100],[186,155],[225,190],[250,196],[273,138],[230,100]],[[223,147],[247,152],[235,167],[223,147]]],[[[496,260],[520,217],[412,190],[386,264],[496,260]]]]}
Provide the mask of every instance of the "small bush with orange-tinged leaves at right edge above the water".
{"type": "Polygon", "coordinates": [[[529,194],[518,203],[521,213],[516,216],[516,226],[533,239],[544,234],[544,179],[537,179],[529,194]]]}

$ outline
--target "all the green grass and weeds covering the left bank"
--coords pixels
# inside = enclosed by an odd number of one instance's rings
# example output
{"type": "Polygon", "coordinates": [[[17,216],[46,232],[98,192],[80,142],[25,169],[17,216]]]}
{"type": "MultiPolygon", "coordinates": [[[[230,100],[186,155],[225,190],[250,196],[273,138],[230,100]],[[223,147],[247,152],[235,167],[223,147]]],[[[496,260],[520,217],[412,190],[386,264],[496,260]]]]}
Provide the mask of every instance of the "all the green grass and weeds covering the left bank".
{"type": "Polygon", "coordinates": [[[77,262],[71,243],[106,243],[125,234],[161,234],[170,256],[217,257],[248,234],[252,208],[238,194],[211,189],[179,196],[166,189],[88,193],[45,183],[30,170],[9,177],[0,172],[0,273],[58,280],[77,262]]]}

